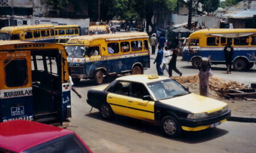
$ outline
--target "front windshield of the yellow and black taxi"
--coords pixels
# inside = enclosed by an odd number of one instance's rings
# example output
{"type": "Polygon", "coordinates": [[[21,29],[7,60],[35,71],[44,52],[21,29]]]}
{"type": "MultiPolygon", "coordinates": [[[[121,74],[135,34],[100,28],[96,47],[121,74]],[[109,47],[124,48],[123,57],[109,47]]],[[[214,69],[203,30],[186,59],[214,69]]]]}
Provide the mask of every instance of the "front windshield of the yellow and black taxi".
{"type": "Polygon", "coordinates": [[[190,93],[189,91],[185,90],[185,88],[181,86],[181,84],[177,83],[175,80],[172,79],[147,83],[147,86],[154,94],[156,100],[183,96],[190,93]]]}

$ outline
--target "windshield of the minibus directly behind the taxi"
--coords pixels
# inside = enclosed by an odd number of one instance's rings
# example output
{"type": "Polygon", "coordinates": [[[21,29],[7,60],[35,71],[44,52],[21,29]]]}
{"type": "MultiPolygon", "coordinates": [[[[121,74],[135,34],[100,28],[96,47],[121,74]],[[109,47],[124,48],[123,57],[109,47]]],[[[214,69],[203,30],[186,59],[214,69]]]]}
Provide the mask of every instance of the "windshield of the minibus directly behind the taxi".
{"type": "Polygon", "coordinates": [[[65,46],[65,49],[68,52],[68,57],[83,58],[85,56],[85,46],[65,46]]]}

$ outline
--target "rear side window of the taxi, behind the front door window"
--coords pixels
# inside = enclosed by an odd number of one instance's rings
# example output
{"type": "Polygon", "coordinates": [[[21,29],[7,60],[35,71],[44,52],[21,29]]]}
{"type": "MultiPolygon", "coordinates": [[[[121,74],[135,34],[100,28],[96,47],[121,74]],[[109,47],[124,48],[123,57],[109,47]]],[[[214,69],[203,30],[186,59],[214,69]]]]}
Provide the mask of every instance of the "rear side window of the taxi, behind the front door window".
{"type": "Polygon", "coordinates": [[[114,94],[128,95],[130,82],[117,82],[114,86],[110,87],[107,91],[114,94]]]}

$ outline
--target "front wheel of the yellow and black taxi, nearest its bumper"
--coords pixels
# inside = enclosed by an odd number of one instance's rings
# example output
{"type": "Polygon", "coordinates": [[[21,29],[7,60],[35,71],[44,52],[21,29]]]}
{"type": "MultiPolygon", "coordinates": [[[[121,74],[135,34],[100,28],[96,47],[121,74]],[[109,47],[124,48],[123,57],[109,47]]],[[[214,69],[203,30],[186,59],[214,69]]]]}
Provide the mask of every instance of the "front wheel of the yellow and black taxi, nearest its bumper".
{"type": "Polygon", "coordinates": [[[166,116],[162,119],[161,130],[164,135],[170,138],[179,137],[181,127],[177,120],[172,116],[166,116]]]}

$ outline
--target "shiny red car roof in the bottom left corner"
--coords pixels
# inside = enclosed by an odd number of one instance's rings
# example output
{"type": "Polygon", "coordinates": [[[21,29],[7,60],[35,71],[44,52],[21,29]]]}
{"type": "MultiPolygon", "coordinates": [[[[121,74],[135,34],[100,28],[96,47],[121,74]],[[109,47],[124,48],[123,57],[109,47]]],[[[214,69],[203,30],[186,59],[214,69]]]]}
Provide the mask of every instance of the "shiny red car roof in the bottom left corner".
{"type": "Polygon", "coordinates": [[[7,121],[0,123],[0,148],[22,152],[67,134],[75,133],[38,122],[26,120],[7,121]]]}

